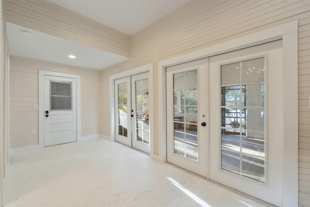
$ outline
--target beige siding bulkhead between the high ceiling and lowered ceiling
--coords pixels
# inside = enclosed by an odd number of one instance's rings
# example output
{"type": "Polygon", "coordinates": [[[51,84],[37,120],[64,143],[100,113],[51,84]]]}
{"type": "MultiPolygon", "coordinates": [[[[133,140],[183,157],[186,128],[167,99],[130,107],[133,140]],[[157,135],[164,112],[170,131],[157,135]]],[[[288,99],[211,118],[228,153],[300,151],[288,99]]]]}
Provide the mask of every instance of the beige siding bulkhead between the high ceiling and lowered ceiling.
{"type": "Polygon", "coordinates": [[[130,37],[46,0],[6,0],[6,21],[130,57],[130,37]]]}

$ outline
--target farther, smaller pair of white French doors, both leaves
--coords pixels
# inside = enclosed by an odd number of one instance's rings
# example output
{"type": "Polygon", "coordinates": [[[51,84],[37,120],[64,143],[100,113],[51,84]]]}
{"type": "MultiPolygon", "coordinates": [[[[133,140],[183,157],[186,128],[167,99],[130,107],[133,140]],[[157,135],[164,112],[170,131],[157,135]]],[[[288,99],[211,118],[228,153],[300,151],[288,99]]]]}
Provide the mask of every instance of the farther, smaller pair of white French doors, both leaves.
{"type": "Polygon", "coordinates": [[[115,80],[115,141],[150,153],[148,72],[115,80]]]}

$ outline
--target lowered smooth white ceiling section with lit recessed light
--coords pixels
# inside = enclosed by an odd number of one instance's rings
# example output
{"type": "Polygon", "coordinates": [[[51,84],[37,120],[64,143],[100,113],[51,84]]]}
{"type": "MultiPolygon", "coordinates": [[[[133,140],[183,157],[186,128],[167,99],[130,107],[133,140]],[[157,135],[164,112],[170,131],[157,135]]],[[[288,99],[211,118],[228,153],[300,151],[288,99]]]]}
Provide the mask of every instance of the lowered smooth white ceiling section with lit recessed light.
{"type": "Polygon", "coordinates": [[[6,29],[10,55],[13,56],[99,70],[129,59],[9,22],[6,29]],[[31,35],[21,31],[28,31],[31,35]],[[68,55],[75,55],[76,59],[68,55]]]}

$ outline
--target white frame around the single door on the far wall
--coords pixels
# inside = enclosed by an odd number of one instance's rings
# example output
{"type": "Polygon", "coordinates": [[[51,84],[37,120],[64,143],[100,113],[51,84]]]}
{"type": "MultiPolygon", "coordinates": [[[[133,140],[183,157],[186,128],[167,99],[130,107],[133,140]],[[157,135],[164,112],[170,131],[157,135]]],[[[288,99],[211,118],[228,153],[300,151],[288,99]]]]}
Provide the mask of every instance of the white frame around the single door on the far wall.
{"type": "Polygon", "coordinates": [[[39,147],[44,147],[44,76],[58,76],[77,80],[77,141],[81,140],[81,76],[39,70],[39,147]]]}

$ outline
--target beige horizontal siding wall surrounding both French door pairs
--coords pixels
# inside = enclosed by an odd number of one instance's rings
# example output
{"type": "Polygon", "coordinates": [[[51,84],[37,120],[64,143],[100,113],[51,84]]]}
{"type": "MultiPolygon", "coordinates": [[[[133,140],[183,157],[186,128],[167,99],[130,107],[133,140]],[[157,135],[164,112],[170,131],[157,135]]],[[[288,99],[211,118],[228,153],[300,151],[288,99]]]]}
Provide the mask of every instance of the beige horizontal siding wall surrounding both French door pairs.
{"type": "MultiPolygon", "coordinates": [[[[310,1],[191,1],[132,37],[131,61],[102,71],[104,114],[109,109],[109,76],[154,64],[155,154],[158,154],[158,61],[299,20],[299,204],[310,207],[310,1]]],[[[103,122],[110,134],[109,119],[103,122]]]]}

